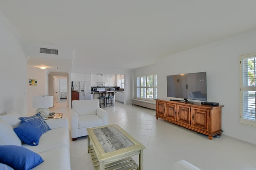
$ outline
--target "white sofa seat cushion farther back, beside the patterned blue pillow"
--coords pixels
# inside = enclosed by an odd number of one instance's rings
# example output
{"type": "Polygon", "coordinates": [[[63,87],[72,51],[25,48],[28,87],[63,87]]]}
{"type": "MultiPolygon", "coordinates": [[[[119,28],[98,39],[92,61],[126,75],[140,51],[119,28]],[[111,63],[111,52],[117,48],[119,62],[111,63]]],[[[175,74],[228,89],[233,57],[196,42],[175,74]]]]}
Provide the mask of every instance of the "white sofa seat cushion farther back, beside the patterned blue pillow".
{"type": "Polygon", "coordinates": [[[60,147],[69,148],[69,129],[54,128],[48,130],[47,132],[42,134],[37,146],[30,146],[25,143],[22,143],[22,146],[36,153],[45,152],[60,147]]]}

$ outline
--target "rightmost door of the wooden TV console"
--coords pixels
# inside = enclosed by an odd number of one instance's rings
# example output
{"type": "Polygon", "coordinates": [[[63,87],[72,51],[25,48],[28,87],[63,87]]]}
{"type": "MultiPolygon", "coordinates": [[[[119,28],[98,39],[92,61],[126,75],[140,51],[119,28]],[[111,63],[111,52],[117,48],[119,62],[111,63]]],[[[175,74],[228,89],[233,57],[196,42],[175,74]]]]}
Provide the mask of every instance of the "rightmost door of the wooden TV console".
{"type": "Polygon", "coordinates": [[[206,132],[209,132],[209,114],[210,111],[207,109],[200,109],[192,107],[192,114],[191,114],[191,120],[192,120],[192,127],[197,128],[199,130],[204,130],[206,132]]]}

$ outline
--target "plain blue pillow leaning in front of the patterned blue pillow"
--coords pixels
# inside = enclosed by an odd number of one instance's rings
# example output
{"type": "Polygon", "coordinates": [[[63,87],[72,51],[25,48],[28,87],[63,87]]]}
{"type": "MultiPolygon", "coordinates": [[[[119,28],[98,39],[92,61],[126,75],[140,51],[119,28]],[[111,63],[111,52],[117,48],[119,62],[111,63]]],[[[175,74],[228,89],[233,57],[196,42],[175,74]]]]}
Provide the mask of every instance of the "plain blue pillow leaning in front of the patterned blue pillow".
{"type": "Polygon", "coordinates": [[[20,140],[22,140],[26,144],[32,146],[38,145],[39,139],[41,137],[41,132],[33,125],[30,125],[26,121],[21,121],[20,125],[13,130],[20,138],[20,140]]]}

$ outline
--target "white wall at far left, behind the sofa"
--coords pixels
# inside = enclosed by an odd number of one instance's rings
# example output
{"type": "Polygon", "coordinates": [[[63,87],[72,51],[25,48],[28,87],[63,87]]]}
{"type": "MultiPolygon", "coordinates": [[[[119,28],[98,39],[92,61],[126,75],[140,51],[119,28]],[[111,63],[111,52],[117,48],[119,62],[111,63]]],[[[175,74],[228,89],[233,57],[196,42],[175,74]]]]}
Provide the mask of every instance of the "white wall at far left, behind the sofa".
{"type": "Polygon", "coordinates": [[[0,114],[27,114],[27,59],[15,29],[0,13],[0,114]]]}

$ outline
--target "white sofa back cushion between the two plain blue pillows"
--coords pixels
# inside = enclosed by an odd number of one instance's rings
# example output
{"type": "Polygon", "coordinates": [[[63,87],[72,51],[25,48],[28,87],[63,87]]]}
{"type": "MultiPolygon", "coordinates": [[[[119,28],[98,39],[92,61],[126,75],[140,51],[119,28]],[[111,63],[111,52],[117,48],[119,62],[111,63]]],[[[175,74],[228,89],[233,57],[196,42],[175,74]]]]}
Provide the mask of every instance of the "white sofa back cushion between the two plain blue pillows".
{"type": "Polygon", "coordinates": [[[12,126],[0,119],[0,141],[2,144],[21,146],[20,138],[14,132],[12,126]]]}

